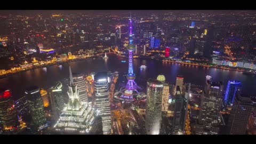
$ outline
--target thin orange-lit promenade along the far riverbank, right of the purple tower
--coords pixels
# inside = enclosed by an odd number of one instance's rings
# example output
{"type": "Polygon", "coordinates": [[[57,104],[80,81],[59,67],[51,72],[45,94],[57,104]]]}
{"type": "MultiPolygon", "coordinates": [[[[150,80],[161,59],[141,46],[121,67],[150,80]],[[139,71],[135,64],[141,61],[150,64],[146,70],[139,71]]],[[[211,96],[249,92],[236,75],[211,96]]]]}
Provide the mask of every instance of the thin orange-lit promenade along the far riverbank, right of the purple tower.
{"type": "Polygon", "coordinates": [[[182,64],[182,65],[188,65],[188,66],[198,66],[198,67],[206,67],[206,68],[217,68],[217,69],[226,69],[226,70],[233,70],[233,71],[244,72],[244,70],[241,70],[241,69],[232,69],[232,68],[225,68],[225,67],[218,67],[218,66],[199,65],[199,64],[196,64],[196,63],[188,63],[188,62],[179,62],[179,61],[171,61],[171,60],[163,60],[163,62],[179,63],[179,64],[182,64]]]}

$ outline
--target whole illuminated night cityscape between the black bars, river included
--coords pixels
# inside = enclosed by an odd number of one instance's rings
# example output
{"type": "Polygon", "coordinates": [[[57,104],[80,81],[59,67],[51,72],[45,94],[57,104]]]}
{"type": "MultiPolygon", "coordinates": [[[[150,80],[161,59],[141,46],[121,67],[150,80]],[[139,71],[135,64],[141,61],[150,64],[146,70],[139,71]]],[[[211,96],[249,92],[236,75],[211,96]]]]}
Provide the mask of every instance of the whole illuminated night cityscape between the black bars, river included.
{"type": "Polygon", "coordinates": [[[0,134],[256,134],[256,11],[0,21],[0,134]]]}

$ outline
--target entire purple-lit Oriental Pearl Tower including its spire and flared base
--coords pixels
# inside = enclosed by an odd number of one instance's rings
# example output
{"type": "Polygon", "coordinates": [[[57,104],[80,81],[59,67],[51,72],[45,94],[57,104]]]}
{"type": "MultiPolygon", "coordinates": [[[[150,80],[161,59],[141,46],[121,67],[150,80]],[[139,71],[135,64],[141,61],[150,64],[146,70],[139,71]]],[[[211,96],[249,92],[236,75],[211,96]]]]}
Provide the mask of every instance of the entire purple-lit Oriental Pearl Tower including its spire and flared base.
{"type": "Polygon", "coordinates": [[[128,73],[126,75],[127,83],[124,87],[121,87],[119,92],[116,92],[114,94],[114,97],[121,100],[123,103],[128,103],[129,107],[131,106],[132,102],[135,98],[138,97],[138,95],[141,95],[142,93],[138,92],[138,90],[141,90],[141,87],[139,87],[135,83],[135,74],[133,73],[133,51],[135,50],[135,47],[133,45],[133,39],[132,39],[132,17],[130,16],[129,20],[129,44],[127,46],[127,50],[129,52],[129,63],[128,63],[128,73]]]}

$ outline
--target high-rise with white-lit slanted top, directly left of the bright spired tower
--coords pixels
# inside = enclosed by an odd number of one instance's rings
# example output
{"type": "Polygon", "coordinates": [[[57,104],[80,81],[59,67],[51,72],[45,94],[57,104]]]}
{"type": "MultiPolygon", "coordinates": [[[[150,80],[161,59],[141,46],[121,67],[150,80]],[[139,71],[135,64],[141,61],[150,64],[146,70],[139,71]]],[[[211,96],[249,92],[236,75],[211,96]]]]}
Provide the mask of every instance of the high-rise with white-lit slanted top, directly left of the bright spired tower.
{"type": "Polygon", "coordinates": [[[61,111],[65,107],[61,82],[58,82],[57,85],[49,89],[49,98],[54,119],[57,120],[61,114],[61,111]]]}

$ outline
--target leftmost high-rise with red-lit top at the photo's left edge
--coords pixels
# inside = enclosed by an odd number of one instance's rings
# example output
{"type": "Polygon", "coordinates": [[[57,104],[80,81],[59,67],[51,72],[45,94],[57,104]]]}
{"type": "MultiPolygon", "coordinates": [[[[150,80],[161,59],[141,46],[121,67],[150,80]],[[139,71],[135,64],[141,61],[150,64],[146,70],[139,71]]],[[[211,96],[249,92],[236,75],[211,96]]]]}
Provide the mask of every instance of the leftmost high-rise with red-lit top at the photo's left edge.
{"type": "Polygon", "coordinates": [[[18,123],[17,110],[14,107],[9,90],[0,90],[0,127],[4,131],[12,130],[18,123]]]}

